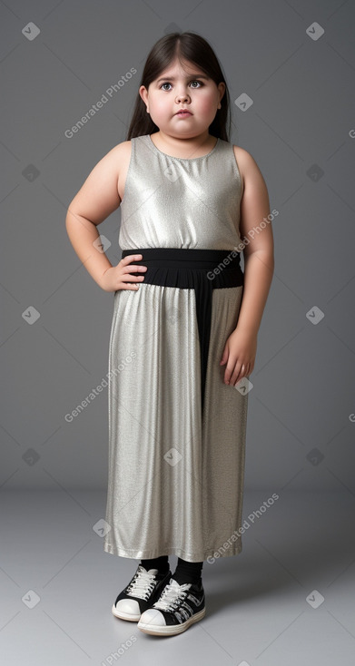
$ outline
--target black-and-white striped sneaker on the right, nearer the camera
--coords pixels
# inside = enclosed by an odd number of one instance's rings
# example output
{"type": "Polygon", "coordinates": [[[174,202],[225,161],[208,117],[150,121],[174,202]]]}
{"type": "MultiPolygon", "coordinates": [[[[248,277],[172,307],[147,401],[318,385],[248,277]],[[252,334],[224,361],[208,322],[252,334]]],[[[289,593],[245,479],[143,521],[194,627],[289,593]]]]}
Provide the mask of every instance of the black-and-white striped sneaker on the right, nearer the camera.
{"type": "Polygon", "coordinates": [[[205,612],[202,578],[198,583],[182,585],[172,578],[158,601],[142,613],[137,627],[156,636],[172,636],[184,632],[193,622],[202,620],[205,612]]]}

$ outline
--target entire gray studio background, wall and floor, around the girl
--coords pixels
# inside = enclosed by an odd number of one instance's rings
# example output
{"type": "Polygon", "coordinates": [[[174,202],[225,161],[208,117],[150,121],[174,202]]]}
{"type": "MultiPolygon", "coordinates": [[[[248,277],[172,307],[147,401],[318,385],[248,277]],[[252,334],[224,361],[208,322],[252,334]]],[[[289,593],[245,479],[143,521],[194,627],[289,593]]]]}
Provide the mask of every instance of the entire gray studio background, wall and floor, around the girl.
{"type": "MultiPolygon", "coordinates": [[[[0,2],[0,661],[353,663],[354,18],[350,0],[0,2]],[[279,211],[251,373],[243,552],[204,563],[206,617],[177,643],[111,612],[137,561],[103,551],[107,388],[65,419],[104,385],[113,315],[66,210],[125,140],[145,58],[175,29],[215,49],[231,141],[279,211]]],[[[113,264],[119,226],[118,210],[99,227],[113,264]]]]}

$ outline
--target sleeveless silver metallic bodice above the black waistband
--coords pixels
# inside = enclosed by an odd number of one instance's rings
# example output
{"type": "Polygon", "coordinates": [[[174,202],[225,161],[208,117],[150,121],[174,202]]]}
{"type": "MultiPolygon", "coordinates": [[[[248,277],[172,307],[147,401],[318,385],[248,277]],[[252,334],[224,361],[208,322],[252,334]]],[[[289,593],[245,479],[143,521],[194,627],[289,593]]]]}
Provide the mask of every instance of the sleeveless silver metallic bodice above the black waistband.
{"type": "Polygon", "coordinates": [[[150,134],[131,140],[119,246],[235,250],[242,179],[232,143],[218,139],[202,157],[172,157],[150,134]]]}

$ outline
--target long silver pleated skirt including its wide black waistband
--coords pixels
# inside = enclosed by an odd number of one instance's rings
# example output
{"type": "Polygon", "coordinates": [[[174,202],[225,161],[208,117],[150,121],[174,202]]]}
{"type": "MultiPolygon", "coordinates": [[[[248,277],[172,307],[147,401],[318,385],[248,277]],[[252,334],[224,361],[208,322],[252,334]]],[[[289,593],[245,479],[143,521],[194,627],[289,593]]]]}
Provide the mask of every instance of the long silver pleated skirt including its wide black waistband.
{"type": "Polygon", "coordinates": [[[248,393],[224,384],[242,304],[232,250],[143,248],[114,293],[104,551],[188,562],[242,551],[248,393]]]}

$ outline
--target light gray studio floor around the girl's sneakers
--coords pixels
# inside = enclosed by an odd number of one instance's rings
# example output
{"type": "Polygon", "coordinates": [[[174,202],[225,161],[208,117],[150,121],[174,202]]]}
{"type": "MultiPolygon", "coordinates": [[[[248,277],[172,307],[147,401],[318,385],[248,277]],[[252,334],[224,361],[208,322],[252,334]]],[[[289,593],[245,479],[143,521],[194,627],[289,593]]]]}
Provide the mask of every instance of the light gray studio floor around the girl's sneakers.
{"type": "MultiPolygon", "coordinates": [[[[355,660],[355,497],[245,492],[240,555],[203,564],[206,616],[160,638],[111,613],[136,560],[104,553],[105,494],[1,494],[3,663],[350,666],[355,660]],[[5,661],[6,659],[6,661],[5,661]]],[[[177,558],[171,557],[174,571],[177,558]]]]}

